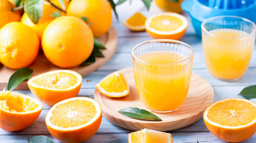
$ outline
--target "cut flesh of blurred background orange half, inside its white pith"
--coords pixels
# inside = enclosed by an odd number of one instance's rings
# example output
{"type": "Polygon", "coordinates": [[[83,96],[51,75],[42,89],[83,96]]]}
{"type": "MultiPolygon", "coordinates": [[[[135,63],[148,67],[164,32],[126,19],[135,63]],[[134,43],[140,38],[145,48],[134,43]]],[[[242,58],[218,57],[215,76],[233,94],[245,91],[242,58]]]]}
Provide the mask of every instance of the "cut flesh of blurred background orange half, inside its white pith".
{"type": "Polygon", "coordinates": [[[174,16],[158,16],[152,19],[149,26],[159,31],[174,31],[178,29],[183,22],[181,19],[174,17],[174,16]]]}

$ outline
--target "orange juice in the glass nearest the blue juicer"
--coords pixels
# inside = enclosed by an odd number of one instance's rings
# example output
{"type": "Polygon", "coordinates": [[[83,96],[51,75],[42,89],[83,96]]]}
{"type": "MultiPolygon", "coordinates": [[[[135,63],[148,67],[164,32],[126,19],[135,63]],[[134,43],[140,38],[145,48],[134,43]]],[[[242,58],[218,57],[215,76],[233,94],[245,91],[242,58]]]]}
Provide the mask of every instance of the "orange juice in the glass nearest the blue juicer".
{"type": "Polygon", "coordinates": [[[205,36],[202,40],[208,71],[224,80],[242,77],[248,68],[254,46],[249,38],[241,37],[248,33],[236,29],[215,29],[209,33],[216,36],[205,36]]]}

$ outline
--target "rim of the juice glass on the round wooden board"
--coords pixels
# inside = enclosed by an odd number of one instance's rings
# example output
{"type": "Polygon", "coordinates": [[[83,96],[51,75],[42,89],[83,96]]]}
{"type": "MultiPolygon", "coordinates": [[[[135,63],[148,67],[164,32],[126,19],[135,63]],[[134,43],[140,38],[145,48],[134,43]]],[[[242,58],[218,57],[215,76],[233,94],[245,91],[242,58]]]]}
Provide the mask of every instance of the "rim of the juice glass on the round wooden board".
{"type": "Polygon", "coordinates": [[[132,57],[139,61],[139,62],[142,62],[142,63],[145,63],[145,64],[149,64],[149,65],[159,65],[159,66],[165,66],[165,65],[176,65],[176,64],[180,64],[180,63],[183,63],[185,61],[188,61],[190,60],[192,57],[194,56],[194,49],[187,43],[185,42],[182,42],[182,41],[179,41],[179,40],[170,40],[170,39],[154,39],[154,40],[147,40],[147,41],[144,41],[144,42],[141,42],[139,44],[137,44],[136,46],[133,47],[132,49],[132,57]],[[134,54],[134,51],[135,49],[137,49],[140,45],[143,45],[145,43],[149,43],[149,42],[170,42],[170,43],[181,43],[185,46],[187,46],[190,50],[191,50],[191,55],[189,57],[186,57],[186,59],[184,60],[181,60],[181,61],[178,61],[178,62],[174,62],[174,63],[165,63],[165,64],[159,64],[159,63],[151,63],[151,62],[146,62],[146,61],[143,61],[141,59],[139,59],[139,57],[135,56],[134,54]]]}

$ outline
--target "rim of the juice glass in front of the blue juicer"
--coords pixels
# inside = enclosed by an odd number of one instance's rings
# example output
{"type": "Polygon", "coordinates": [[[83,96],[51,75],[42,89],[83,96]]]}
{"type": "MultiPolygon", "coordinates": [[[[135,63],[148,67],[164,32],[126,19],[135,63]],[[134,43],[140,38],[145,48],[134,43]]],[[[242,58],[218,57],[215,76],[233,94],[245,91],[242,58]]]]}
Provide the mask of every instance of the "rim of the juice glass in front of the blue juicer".
{"type": "MultiPolygon", "coordinates": [[[[208,19],[205,19],[203,21],[203,23],[201,24],[201,29],[203,32],[205,32],[206,34],[210,35],[210,36],[214,36],[214,37],[218,37],[218,38],[222,38],[222,39],[240,39],[240,38],[246,38],[246,37],[250,37],[251,35],[255,34],[256,32],[256,25],[254,22],[246,19],[246,18],[243,18],[243,17],[239,17],[239,16],[230,16],[230,15],[221,15],[221,16],[214,16],[214,17],[211,17],[211,18],[208,18],[208,19]],[[236,37],[230,37],[230,36],[219,36],[219,35],[215,35],[215,34],[212,34],[210,33],[208,30],[205,29],[204,27],[204,24],[209,21],[209,20],[212,20],[212,19],[216,19],[216,18],[224,18],[224,17],[227,17],[227,18],[238,18],[238,19],[242,19],[243,21],[246,21],[246,22],[249,22],[252,24],[252,26],[254,27],[253,31],[248,33],[247,35],[244,35],[244,36],[236,36],[236,37]]],[[[219,28],[221,29],[221,28],[219,28]]],[[[231,29],[231,28],[230,28],[231,29]]]]}

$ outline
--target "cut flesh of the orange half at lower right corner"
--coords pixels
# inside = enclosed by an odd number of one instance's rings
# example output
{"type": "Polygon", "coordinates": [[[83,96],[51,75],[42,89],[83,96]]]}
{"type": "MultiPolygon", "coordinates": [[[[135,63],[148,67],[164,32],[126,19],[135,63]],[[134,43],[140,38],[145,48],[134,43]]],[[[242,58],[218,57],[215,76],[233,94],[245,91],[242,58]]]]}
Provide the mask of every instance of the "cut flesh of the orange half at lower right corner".
{"type": "Polygon", "coordinates": [[[256,107],[245,101],[227,100],[213,105],[207,118],[223,126],[246,125],[256,117],[256,107]]]}

